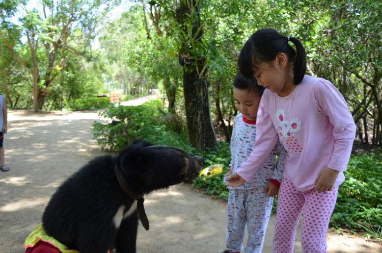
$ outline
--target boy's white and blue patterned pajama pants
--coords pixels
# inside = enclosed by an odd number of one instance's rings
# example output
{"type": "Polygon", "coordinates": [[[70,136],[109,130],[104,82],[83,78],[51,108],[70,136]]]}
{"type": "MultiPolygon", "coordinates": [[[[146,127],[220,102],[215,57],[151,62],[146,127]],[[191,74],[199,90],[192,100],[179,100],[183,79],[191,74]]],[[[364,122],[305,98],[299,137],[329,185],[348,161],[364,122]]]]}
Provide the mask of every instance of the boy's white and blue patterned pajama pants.
{"type": "Polygon", "coordinates": [[[248,241],[244,252],[261,253],[272,203],[273,197],[268,197],[263,192],[263,187],[252,190],[230,189],[226,237],[226,248],[229,252],[237,252],[243,248],[247,226],[248,241]]]}

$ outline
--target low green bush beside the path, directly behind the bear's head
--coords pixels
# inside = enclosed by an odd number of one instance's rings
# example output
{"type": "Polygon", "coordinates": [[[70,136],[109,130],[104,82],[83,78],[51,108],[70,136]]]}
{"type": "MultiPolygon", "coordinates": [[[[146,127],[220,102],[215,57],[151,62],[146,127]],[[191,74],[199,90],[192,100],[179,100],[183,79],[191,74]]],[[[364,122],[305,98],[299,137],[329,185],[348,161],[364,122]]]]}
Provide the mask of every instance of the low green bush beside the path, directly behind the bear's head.
{"type": "Polygon", "coordinates": [[[160,99],[152,99],[140,106],[110,107],[99,113],[111,123],[93,123],[93,136],[103,150],[120,151],[137,138],[155,145],[177,146],[190,150],[185,133],[175,133],[162,124],[160,99]]]}

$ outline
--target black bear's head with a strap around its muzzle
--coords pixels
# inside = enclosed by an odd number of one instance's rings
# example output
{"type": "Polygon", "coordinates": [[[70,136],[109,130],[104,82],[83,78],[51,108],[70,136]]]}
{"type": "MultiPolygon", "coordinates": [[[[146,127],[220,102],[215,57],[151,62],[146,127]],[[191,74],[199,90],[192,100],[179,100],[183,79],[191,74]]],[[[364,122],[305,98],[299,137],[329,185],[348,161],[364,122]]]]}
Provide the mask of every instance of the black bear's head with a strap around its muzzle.
{"type": "Polygon", "coordinates": [[[203,157],[178,147],[155,146],[145,140],[134,141],[117,160],[127,185],[138,194],[191,182],[203,164],[203,157]]]}

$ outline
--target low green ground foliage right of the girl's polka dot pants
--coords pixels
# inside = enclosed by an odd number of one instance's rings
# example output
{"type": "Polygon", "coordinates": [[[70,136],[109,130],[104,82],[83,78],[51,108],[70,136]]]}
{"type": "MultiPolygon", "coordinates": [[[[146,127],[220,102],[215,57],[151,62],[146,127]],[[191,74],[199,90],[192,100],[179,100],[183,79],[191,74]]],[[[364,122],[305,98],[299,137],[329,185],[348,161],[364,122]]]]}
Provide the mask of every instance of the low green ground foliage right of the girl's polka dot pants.
{"type": "Polygon", "coordinates": [[[382,150],[352,156],[340,186],[330,225],[382,230],[382,150]]]}

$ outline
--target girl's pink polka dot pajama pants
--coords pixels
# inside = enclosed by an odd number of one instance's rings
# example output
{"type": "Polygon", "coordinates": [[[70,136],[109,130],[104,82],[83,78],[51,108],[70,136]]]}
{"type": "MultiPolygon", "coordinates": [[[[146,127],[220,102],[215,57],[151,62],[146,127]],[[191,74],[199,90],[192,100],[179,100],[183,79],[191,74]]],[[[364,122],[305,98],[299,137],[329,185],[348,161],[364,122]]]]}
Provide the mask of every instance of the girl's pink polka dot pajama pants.
{"type": "Polygon", "coordinates": [[[324,253],[329,220],[336,206],[338,187],[332,191],[298,191],[283,179],[277,203],[274,253],[293,253],[298,221],[303,215],[301,244],[304,253],[324,253]]]}

